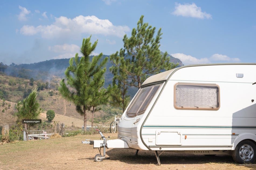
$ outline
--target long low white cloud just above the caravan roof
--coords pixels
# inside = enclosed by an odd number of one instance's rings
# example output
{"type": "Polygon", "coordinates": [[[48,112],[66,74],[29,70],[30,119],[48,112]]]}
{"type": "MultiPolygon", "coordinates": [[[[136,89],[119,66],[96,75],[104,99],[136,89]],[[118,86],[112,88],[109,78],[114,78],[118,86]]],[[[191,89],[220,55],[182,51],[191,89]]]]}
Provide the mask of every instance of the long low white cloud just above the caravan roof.
{"type": "Polygon", "coordinates": [[[183,53],[175,53],[175,54],[171,54],[171,56],[180,59],[184,65],[209,64],[212,62],[223,63],[223,62],[240,62],[241,61],[239,58],[230,58],[222,54],[213,54],[209,58],[200,58],[200,59],[196,57],[192,57],[190,55],[183,54],[183,53]]]}

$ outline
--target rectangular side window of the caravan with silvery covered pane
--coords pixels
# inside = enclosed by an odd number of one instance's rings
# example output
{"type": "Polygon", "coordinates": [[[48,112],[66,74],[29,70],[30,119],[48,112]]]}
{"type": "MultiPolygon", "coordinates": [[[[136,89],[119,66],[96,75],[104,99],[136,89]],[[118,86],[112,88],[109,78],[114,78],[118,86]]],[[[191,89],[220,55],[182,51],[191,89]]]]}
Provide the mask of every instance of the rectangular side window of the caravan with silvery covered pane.
{"type": "Polygon", "coordinates": [[[175,85],[174,106],[176,109],[219,109],[219,86],[178,83],[175,85]]]}

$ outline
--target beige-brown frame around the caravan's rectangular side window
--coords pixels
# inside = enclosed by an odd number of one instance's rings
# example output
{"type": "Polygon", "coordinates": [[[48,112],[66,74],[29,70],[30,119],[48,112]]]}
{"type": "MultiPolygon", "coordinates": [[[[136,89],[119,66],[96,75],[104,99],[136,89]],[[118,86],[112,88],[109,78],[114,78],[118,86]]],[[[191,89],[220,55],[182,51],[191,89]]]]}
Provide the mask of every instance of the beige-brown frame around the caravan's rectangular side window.
{"type": "Polygon", "coordinates": [[[174,93],[173,93],[174,95],[174,99],[173,99],[173,104],[174,104],[174,108],[176,108],[176,109],[185,109],[185,110],[219,110],[219,108],[220,108],[220,87],[217,85],[217,84],[207,84],[207,83],[176,83],[176,84],[174,84],[174,93]],[[205,86],[205,87],[216,87],[216,89],[217,89],[217,95],[216,95],[216,99],[217,99],[217,101],[216,101],[216,103],[217,103],[217,105],[218,105],[218,107],[216,107],[216,108],[212,108],[211,106],[209,106],[209,108],[206,108],[206,107],[196,107],[196,106],[194,106],[194,107],[183,107],[183,106],[177,106],[176,105],[176,87],[177,87],[177,85],[185,85],[185,86],[205,86]]]}

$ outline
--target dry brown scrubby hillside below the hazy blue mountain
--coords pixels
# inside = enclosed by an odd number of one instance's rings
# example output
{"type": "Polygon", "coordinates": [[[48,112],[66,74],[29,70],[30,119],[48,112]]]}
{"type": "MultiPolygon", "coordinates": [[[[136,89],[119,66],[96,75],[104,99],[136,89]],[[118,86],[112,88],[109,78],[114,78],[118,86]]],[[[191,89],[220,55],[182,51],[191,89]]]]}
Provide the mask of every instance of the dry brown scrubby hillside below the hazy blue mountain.
{"type": "MultiPolygon", "coordinates": [[[[52,80],[50,80],[49,84],[55,84],[56,82],[60,82],[60,78],[53,78],[52,80]]],[[[34,90],[36,87],[37,82],[34,82],[34,85],[30,86],[29,80],[0,74],[0,125],[13,125],[16,123],[17,116],[14,116],[14,114],[17,111],[15,108],[17,102],[22,100],[24,98],[24,95],[28,95],[27,91],[34,90]]],[[[40,107],[43,110],[41,117],[45,117],[42,120],[46,120],[45,113],[47,112],[47,110],[54,110],[56,116],[53,121],[68,120],[66,121],[67,124],[71,124],[73,122],[75,126],[78,126],[80,128],[82,127],[83,116],[80,116],[80,114],[76,112],[75,106],[71,102],[67,102],[66,100],[64,100],[57,90],[52,88],[39,90],[37,99],[39,100],[40,107]],[[81,121],[82,124],[77,123],[81,121]]],[[[102,110],[96,112],[94,116],[94,122],[104,123],[101,121],[105,121],[107,116],[111,118],[110,112],[118,112],[116,111],[116,109],[111,109],[114,108],[106,107],[105,112],[102,110]]],[[[92,112],[87,111],[87,125],[91,124],[91,119],[92,112]]]]}

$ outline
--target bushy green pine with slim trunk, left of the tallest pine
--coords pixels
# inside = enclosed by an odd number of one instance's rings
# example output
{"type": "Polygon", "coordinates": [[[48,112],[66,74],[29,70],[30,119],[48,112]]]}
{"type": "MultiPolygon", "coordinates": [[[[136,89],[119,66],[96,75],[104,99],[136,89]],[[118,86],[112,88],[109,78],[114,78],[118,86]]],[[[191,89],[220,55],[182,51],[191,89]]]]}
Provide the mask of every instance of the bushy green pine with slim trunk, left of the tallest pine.
{"type": "Polygon", "coordinates": [[[90,61],[89,55],[96,48],[98,40],[93,44],[90,38],[83,39],[80,52],[83,57],[78,57],[76,53],[74,58],[69,60],[69,66],[65,71],[65,79],[60,82],[59,92],[66,100],[71,101],[76,106],[76,111],[84,116],[84,127],[86,127],[86,110],[89,110],[93,105],[99,105],[106,102],[109,89],[103,89],[104,78],[103,74],[106,68],[103,68],[108,58],[101,60],[103,54],[94,56],[90,61]],[[97,94],[100,93],[100,96],[97,94]],[[104,95],[104,96],[103,96],[104,95]],[[101,97],[101,98],[100,98],[101,97]]]}

